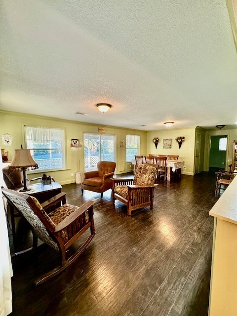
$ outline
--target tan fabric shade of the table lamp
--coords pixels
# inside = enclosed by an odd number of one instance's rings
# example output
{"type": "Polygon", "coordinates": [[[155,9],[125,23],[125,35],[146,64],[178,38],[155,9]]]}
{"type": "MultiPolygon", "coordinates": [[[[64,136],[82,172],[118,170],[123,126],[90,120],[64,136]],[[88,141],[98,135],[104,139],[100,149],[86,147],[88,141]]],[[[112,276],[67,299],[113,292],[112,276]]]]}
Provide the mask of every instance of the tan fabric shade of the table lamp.
{"type": "Polygon", "coordinates": [[[15,149],[15,154],[9,167],[33,167],[33,169],[39,168],[37,162],[31,156],[30,149],[15,149]]]}

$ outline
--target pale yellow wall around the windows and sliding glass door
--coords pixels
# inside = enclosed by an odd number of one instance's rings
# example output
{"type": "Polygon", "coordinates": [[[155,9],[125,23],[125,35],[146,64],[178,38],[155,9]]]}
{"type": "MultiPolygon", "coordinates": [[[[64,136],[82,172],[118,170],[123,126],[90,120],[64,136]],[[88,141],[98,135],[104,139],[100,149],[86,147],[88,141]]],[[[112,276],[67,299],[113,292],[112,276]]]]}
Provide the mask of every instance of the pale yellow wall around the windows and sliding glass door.
{"type": "MultiPolygon", "coordinates": [[[[98,133],[98,125],[80,123],[76,121],[67,121],[55,118],[47,118],[40,116],[33,116],[21,113],[13,113],[0,111],[0,135],[8,133],[12,136],[12,146],[6,146],[5,151],[8,151],[8,159],[13,158],[14,149],[20,149],[21,144],[25,148],[24,144],[24,124],[37,124],[39,126],[47,127],[63,127],[66,130],[66,169],[60,171],[50,171],[50,175],[59,183],[67,184],[75,182],[75,173],[78,171],[78,162],[80,161],[80,172],[83,172],[83,148],[80,147],[78,151],[74,151],[71,147],[71,139],[78,138],[80,144],[83,143],[83,132],[98,133]],[[71,176],[74,173],[74,176],[71,176]]],[[[103,126],[104,127],[104,126],[103,126]]],[[[123,141],[125,145],[126,134],[139,135],[141,137],[141,155],[146,155],[147,151],[147,132],[138,131],[132,129],[116,128],[111,126],[105,126],[106,132],[103,134],[111,134],[116,136],[116,173],[124,173],[132,171],[130,163],[126,162],[126,147],[119,147],[120,141],[123,141]],[[129,169],[127,169],[129,168],[129,169]]],[[[49,172],[48,172],[49,173],[49,172]]],[[[30,179],[40,176],[42,171],[34,172],[34,174],[28,172],[30,179]]]]}

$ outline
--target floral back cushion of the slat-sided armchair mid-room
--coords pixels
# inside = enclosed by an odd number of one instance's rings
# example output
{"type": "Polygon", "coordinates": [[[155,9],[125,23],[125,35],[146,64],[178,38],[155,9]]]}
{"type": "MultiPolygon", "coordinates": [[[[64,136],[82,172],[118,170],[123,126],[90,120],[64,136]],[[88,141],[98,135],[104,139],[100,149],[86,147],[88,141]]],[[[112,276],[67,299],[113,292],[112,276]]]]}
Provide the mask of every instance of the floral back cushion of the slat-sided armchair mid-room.
{"type": "Polygon", "coordinates": [[[154,184],[157,177],[157,168],[147,165],[140,164],[134,175],[133,183],[142,184],[154,184]]]}

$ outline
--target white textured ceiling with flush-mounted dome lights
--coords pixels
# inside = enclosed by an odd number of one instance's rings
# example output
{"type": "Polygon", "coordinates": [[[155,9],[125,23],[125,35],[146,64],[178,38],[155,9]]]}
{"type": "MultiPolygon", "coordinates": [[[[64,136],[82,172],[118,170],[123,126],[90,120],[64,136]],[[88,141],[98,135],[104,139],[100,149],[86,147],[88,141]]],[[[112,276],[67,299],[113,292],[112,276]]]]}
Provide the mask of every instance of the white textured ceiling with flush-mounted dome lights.
{"type": "Polygon", "coordinates": [[[142,130],[237,121],[225,0],[1,0],[0,30],[0,109],[142,130]]]}

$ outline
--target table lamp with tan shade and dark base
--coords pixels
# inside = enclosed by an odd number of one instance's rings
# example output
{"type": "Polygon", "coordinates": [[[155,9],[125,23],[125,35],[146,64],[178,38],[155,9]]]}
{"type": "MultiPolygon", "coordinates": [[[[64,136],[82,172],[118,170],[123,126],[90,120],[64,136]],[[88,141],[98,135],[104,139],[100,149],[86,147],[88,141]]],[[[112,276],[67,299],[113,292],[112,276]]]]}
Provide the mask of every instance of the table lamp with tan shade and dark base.
{"type": "Polygon", "coordinates": [[[31,190],[26,187],[26,169],[28,167],[31,167],[33,170],[39,168],[37,162],[31,156],[30,149],[15,149],[14,157],[8,168],[19,168],[19,171],[23,172],[24,188],[20,192],[31,190]]]}

